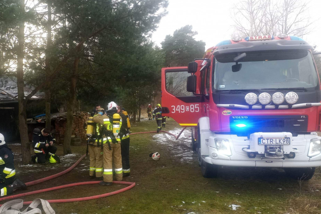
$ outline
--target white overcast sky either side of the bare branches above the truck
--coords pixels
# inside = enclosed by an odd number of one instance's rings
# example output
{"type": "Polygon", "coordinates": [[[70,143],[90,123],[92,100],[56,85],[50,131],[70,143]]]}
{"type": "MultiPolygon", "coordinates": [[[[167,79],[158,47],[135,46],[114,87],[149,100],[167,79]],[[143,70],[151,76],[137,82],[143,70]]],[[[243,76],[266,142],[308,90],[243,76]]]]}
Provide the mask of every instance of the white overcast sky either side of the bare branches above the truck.
{"type": "MultiPolygon", "coordinates": [[[[231,17],[232,7],[240,0],[169,0],[168,14],[160,21],[152,40],[158,45],[168,34],[187,24],[197,31],[196,40],[203,40],[208,49],[222,40],[230,39],[234,24],[231,17]]],[[[302,0],[304,1],[304,0],[302,0]]],[[[311,45],[321,51],[321,0],[309,0],[308,12],[313,23],[313,31],[304,36],[311,45]]]]}

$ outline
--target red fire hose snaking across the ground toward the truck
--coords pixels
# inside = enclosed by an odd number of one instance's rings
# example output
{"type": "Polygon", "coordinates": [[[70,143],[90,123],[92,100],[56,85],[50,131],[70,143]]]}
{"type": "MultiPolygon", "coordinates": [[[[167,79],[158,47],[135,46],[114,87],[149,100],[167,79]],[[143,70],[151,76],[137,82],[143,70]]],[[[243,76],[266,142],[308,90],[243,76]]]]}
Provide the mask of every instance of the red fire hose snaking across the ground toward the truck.
{"type": "MultiPolygon", "coordinates": [[[[185,129],[186,127],[184,127],[185,129]]],[[[183,129],[183,130],[184,130],[183,129]]],[[[168,132],[168,131],[160,131],[160,132],[165,132],[169,135],[174,136],[176,139],[178,139],[178,137],[181,135],[181,133],[183,132],[183,130],[179,133],[178,136],[168,132]]],[[[148,131],[148,132],[136,132],[136,133],[130,133],[130,135],[134,135],[134,134],[145,134],[145,133],[156,133],[156,131],[148,131]]],[[[79,163],[80,161],[82,161],[82,159],[85,157],[86,155],[81,156],[76,163],[74,163],[72,166],[70,166],[68,169],[57,173],[57,174],[53,174],[50,175],[48,177],[45,178],[41,178],[35,181],[30,181],[28,183],[26,183],[26,186],[32,186],[38,183],[42,183],[45,181],[49,181],[51,179],[54,179],[56,177],[59,177],[61,175],[64,175],[68,172],[70,172],[72,169],[74,169],[79,163]]],[[[62,185],[62,186],[56,186],[56,187],[51,187],[51,188],[47,188],[47,189],[42,189],[42,190],[36,190],[36,191],[31,191],[31,192],[25,192],[25,193],[21,193],[21,194],[17,194],[17,195],[10,195],[7,197],[3,197],[0,198],[0,201],[4,201],[4,200],[9,200],[9,199],[14,199],[14,198],[19,198],[19,197],[23,197],[23,196],[27,196],[27,195],[33,195],[33,194],[37,194],[37,193],[41,193],[41,192],[48,192],[48,191],[52,191],[52,190],[58,190],[58,189],[63,189],[66,187],[72,187],[72,186],[79,186],[79,185],[87,185],[87,184],[97,184],[100,181],[88,181],[88,182],[80,182],[80,183],[70,183],[70,184],[66,184],[66,185],[62,185]]],[[[107,196],[111,196],[111,195],[115,195],[118,194],[120,192],[125,192],[126,190],[129,190],[131,188],[133,188],[136,184],[132,183],[132,182],[125,182],[125,181],[113,181],[113,183],[117,183],[117,184],[125,184],[125,185],[129,185],[123,189],[114,191],[114,192],[108,192],[105,194],[100,194],[100,195],[94,195],[94,196],[88,196],[88,197],[83,197],[83,198],[72,198],[72,199],[56,199],[56,200],[47,200],[49,203],[66,203],[66,202],[75,202],[75,201],[88,201],[88,200],[92,200],[92,199],[98,199],[98,198],[104,198],[107,196]]],[[[23,205],[29,205],[32,201],[26,201],[23,202],[23,205]]],[[[2,204],[0,204],[0,207],[2,206],[2,204]]]]}

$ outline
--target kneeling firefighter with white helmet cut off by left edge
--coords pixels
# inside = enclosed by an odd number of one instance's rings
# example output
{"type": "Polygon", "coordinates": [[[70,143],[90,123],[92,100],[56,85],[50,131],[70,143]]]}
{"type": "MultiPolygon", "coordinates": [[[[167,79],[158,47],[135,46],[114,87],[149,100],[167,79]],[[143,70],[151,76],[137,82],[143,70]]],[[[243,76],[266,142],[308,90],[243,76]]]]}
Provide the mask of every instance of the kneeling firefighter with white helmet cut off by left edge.
{"type": "Polygon", "coordinates": [[[5,143],[2,134],[0,134],[0,172],[0,196],[10,195],[15,190],[27,188],[26,184],[15,178],[13,153],[5,143]]]}

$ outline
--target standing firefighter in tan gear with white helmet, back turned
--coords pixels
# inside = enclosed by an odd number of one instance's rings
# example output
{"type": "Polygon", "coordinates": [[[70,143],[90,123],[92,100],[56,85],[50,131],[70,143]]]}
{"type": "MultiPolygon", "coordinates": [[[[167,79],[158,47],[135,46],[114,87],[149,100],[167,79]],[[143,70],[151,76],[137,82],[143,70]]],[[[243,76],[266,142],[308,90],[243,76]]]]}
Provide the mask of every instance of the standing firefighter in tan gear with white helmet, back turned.
{"type": "Polygon", "coordinates": [[[110,102],[107,105],[107,115],[97,113],[93,116],[92,121],[104,126],[105,130],[102,137],[103,143],[103,178],[104,181],[100,182],[100,185],[112,185],[113,181],[113,169],[112,162],[115,166],[115,177],[117,181],[123,180],[123,168],[121,160],[121,147],[119,130],[122,125],[120,115],[117,114],[117,104],[110,102]]]}

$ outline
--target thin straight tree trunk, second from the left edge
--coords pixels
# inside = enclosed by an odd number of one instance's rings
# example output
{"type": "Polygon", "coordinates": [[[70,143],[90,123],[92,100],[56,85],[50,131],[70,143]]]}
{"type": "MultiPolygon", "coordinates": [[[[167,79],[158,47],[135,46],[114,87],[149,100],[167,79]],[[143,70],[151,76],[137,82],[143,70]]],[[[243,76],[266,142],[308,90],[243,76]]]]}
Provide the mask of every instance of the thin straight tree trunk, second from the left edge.
{"type": "Polygon", "coordinates": [[[48,23],[47,23],[47,50],[46,50],[46,90],[45,90],[45,103],[46,103],[46,128],[51,129],[51,115],[50,115],[50,49],[51,49],[51,0],[48,0],[48,23]]]}

